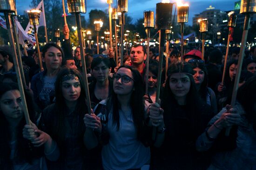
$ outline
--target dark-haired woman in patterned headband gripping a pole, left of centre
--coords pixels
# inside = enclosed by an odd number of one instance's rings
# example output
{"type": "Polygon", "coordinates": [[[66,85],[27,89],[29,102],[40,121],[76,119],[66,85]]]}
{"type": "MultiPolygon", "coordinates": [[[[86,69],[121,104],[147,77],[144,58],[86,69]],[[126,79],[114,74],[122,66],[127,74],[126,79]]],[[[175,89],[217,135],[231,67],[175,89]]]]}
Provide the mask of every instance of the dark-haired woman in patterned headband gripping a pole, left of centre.
{"type": "Polygon", "coordinates": [[[91,161],[83,143],[87,106],[81,74],[76,69],[62,69],[55,89],[56,102],[43,110],[40,130],[29,126],[27,132],[38,134],[31,141],[35,146],[44,145],[49,170],[84,170],[91,161]]]}

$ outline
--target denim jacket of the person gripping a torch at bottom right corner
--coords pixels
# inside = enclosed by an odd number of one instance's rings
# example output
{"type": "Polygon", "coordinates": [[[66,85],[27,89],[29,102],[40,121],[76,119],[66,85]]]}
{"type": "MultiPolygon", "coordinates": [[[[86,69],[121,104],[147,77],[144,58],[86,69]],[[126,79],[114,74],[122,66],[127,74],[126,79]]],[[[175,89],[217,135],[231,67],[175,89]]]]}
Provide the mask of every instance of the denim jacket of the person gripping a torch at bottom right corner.
{"type": "MultiPolygon", "coordinates": [[[[241,115],[241,121],[237,129],[236,148],[230,151],[218,151],[212,158],[211,167],[214,170],[256,170],[256,132],[252,124],[245,117],[243,107],[236,103],[237,113],[241,115]]],[[[213,119],[209,121],[208,127],[218,120],[226,112],[224,107],[213,119]]],[[[214,141],[209,141],[206,133],[202,133],[197,139],[198,151],[209,150],[214,141]]]]}

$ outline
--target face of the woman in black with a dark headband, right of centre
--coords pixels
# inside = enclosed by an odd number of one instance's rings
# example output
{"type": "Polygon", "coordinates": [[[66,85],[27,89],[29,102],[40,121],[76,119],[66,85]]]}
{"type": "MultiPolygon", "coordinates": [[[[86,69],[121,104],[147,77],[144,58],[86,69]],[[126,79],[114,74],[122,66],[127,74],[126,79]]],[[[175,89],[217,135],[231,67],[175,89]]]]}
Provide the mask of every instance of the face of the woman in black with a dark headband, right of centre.
{"type": "Polygon", "coordinates": [[[174,73],[170,77],[169,86],[175,97],[186,97],[190,85],[189,76],[184,73],[174,73]]]}

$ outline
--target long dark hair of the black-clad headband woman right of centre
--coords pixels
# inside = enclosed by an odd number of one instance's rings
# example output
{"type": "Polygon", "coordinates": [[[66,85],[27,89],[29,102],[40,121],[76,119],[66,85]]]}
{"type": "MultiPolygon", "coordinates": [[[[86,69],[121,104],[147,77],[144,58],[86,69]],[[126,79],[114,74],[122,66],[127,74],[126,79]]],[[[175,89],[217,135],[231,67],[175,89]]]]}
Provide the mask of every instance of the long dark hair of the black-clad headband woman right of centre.
{"type": "Polygon", "coordinates": [[[202,100],[197,94],[193,78],[193,69],[189,63],[175,63],[171,64],[168,68],[168,78],[166,81],[162,99],[162,108],[164,110],[164,114],[174,114],[175,108],[179,106],[169,86],[170,77],[174,73],[184,73],[189,76],[190,89],[189,93],[186,96],[186,108],[187,111],[190,112],[188,116],[191,120],[192,126],[194,127],[197,124],[197,118],[199,118],[199,113],[201,113],[200,107],[202,107],[202,100]]]}

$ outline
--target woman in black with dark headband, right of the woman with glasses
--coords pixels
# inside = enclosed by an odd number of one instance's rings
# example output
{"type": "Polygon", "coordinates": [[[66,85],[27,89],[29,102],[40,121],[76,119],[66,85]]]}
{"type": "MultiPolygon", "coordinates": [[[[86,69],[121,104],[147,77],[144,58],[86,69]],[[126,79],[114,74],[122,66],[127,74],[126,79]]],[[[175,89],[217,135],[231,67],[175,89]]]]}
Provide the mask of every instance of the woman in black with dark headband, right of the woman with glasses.
{"type": "Polygon", "coordinates": [[[161,102],[165,139],[152,158],[153,169],[205,170],[209,157],[196,151],[195,142],[213,113],[197,95],[190,64],[172,64],[166,82],[161,102]]]}

